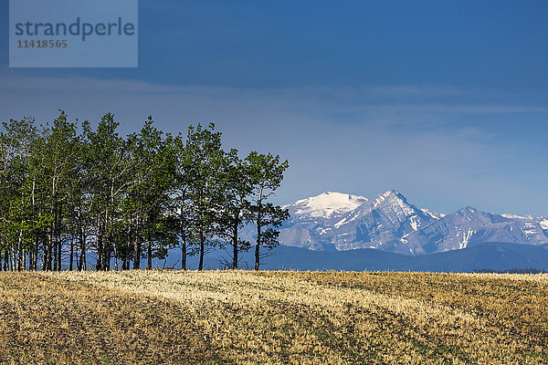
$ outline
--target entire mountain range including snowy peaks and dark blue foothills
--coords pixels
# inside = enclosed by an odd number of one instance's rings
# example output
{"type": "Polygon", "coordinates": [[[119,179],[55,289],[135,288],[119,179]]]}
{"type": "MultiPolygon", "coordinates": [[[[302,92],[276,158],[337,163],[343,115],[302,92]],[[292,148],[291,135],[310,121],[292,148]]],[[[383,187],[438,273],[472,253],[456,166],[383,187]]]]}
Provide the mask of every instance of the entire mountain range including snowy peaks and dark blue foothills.
{"type": "MultiPolygon", "coordinates": [[[[321,193],[284,208],[290,219],[280,228],[281,245],[263,250],[261,269],[548,271],[544,217],[490,214],[470,206],[440,214],[408,203],[394,190],[372,199],[321,193]]],[[[242,238],[253,243],[253,232],[247,226],[242,238]]],[[[254,266],[253,251],[240,254],[240,268],[254,266]]],[[[172,249],[153,265],[179,267],[180,259],[180,249],[172,249]]],[[[225,268],[229,260],[229,247],[216,248],[205,255],[204,267],[225,268]]],[[[196,268],[198,257],[188,257],[187,265],[196,268]]]]}

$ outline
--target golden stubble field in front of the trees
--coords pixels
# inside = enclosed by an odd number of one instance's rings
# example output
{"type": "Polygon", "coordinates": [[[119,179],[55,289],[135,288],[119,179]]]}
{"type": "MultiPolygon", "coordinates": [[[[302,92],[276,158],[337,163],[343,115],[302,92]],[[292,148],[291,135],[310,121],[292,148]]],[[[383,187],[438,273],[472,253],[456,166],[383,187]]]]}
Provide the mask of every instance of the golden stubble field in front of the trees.
{"type": "Polygon", "coordinates": [[[0,273],[0,363],[548,363],[548,276],[0,273]]]}

